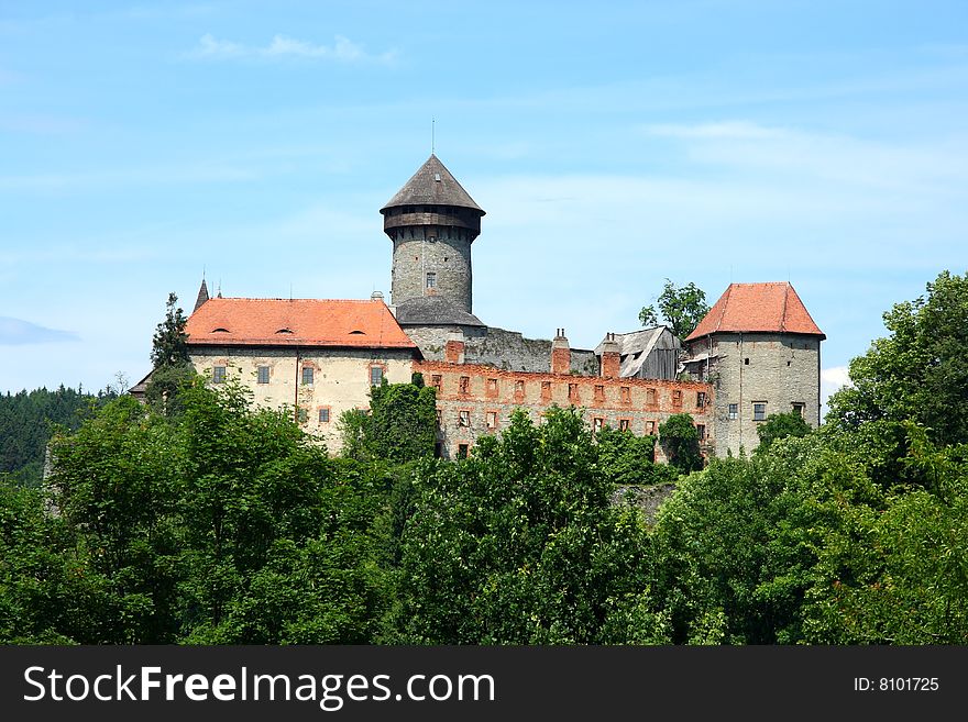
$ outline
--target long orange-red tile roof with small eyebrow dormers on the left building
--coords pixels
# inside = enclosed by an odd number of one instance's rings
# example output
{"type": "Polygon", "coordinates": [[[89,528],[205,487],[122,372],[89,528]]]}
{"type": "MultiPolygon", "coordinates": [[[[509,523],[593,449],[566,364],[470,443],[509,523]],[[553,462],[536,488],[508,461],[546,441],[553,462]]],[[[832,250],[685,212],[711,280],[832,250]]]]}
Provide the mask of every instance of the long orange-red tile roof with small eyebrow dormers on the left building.
{"type": "Polygon", "coordinates": [[[185,331],[189,345],[417,347],[378,300],[210,298],[185,331]]]}

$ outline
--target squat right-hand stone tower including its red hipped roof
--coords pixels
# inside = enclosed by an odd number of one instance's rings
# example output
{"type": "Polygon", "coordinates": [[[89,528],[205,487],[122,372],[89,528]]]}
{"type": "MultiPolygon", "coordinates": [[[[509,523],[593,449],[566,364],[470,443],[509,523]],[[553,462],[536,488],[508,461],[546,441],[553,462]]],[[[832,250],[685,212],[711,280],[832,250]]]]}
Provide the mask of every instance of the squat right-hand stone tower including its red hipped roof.
{"type": "Polygon", "coordinates": [[[774,413],[821,421],[821,342],[789,282],[730,284],[685,340],[685,368],[713,385],[716,454],[751,452],[774,413]]]}

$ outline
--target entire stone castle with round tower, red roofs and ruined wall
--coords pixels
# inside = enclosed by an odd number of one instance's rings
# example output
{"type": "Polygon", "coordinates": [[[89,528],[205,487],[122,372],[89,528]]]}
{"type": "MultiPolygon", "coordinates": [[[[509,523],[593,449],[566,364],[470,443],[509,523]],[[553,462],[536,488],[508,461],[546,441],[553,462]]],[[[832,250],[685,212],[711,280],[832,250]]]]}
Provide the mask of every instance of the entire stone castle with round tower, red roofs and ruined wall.
{"type": "MultiPolygon", "coordinates": [[[[391,304],[369,300],[209,298],[186,326],[191,363],[212,384],[238,378],[261,406],[293,408],[338,451],[337,421],[369,408],[372,385],[415,373],[437,389],[437,453],[470,453],[514,409],[583,409],[592,426],[656,434],[689,413],[704,454],[758,443],[769,414],[820,423],[825,338],[790,284],[732,284],[695,331],[606,333],[571,348],[564,330],[525,338],[473,313],[471,247],[482,210],[436,155],[380,211],[393,243],[391,304]]],[[[657,452],[661,458],[661,449],[657,452]]]]}

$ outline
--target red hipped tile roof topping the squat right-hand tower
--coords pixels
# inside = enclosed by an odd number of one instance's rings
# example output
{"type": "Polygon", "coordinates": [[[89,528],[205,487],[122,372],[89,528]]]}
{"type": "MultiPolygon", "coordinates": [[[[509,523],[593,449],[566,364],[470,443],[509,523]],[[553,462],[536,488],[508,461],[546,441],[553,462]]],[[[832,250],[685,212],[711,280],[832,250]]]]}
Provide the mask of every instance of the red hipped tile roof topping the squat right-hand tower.
{"type": "Polygon", "coordinates": [[[730,284],[686,341],[737,331],[801,333],[826,338],[788,282],[730,284]]]}

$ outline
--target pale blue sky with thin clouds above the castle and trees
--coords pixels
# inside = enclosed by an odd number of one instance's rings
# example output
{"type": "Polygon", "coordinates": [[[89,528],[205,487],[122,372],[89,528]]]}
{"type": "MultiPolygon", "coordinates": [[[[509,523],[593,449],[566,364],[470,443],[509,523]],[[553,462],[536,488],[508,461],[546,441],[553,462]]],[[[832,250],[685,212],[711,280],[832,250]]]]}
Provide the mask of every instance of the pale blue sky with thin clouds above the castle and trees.
{"type": "Polygon", "coordinates": [[[789,280],[826,395],[968,267],[966,119],[963,1],[0,0],[0,392],[133,384],[202,275],[388,298],[432,143],[485,323],[593,348],[667,278],[789,280]]]}

